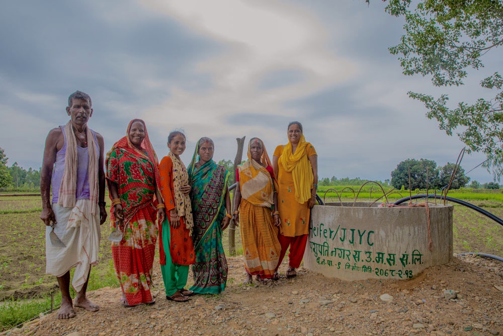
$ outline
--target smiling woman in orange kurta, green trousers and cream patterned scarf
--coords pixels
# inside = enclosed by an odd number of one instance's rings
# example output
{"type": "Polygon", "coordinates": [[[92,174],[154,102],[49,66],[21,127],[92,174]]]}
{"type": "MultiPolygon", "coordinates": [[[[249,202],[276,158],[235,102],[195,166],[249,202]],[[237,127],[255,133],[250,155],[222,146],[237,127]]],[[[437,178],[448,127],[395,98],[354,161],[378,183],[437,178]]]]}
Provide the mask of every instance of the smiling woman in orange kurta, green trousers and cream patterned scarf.
{"type": "MultiPolygon", "coordinates": [[[[189,175],[180,159],[185,151],[185,135],[173,131],[167,138],[170,153],[159,164],[160,192],[169,212],[169,220],[159,225],[159,259],[166,299],[176,302],[189,300],[192,291],[185,289],[189,265],[195,262],[192,242],[192,206],[189,175]]],[[[167,217],[167,216],[166,216],[167,217]]]]}

